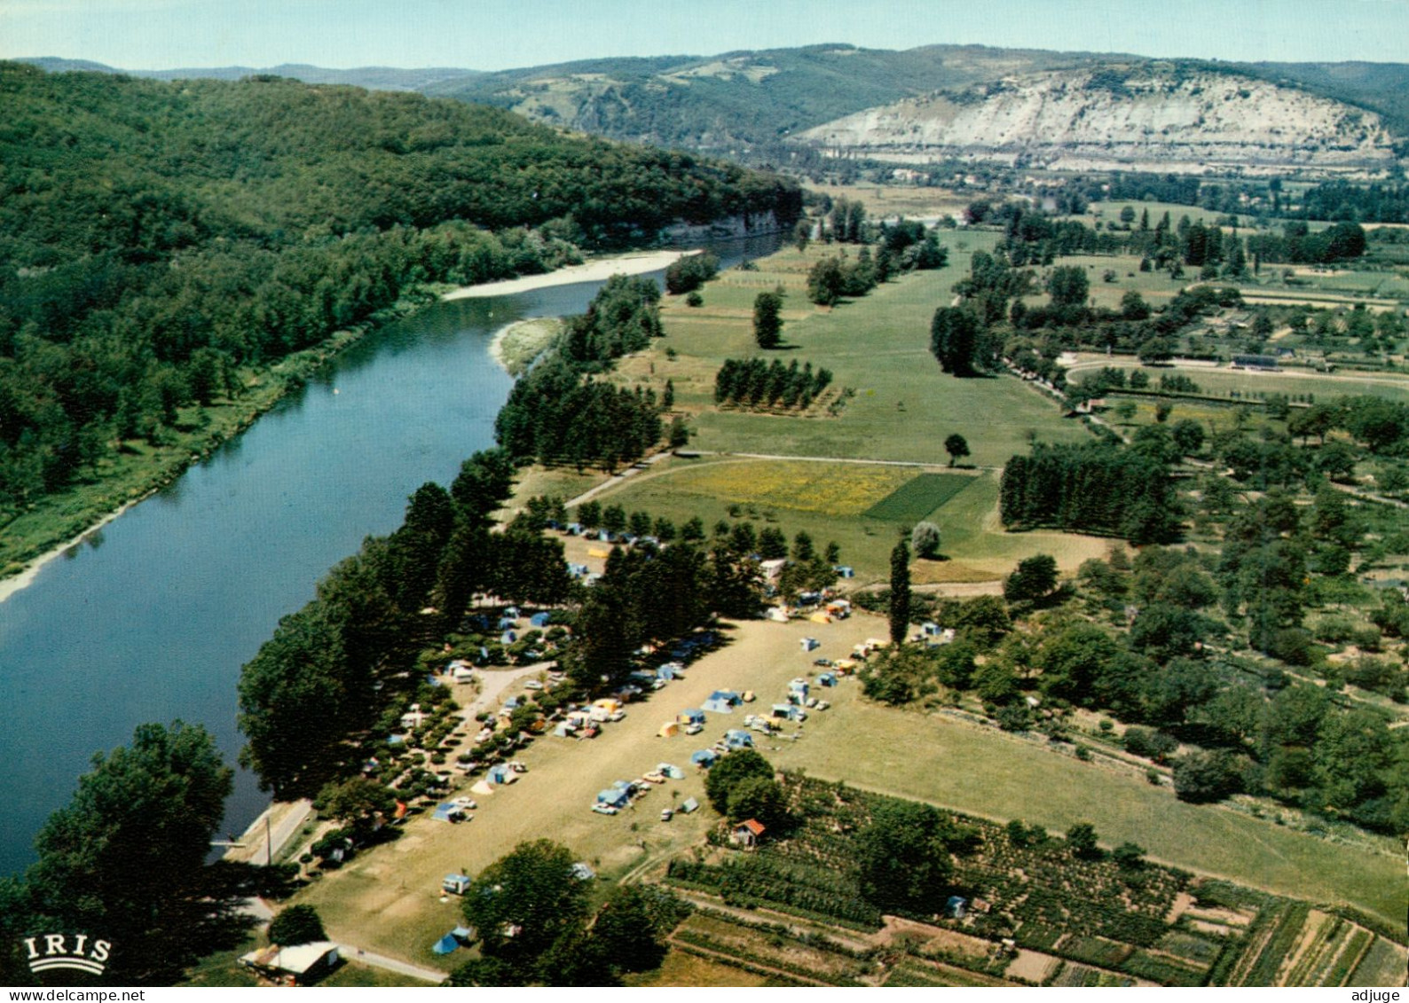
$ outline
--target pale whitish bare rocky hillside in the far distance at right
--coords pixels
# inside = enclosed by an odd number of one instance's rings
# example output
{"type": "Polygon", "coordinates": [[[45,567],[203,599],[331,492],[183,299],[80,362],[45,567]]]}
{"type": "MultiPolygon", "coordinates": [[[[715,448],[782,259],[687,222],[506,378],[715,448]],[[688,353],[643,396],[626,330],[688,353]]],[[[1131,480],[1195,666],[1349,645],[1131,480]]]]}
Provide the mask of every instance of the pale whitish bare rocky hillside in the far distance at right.
{"type": "Polygon", "coordinates": [[[1062,169],[1379,170],[1394,137],[1371,111],[1217,72],[1033,73],[869,108],[807,130],[837,156],[968,158],[1062,169]]]}

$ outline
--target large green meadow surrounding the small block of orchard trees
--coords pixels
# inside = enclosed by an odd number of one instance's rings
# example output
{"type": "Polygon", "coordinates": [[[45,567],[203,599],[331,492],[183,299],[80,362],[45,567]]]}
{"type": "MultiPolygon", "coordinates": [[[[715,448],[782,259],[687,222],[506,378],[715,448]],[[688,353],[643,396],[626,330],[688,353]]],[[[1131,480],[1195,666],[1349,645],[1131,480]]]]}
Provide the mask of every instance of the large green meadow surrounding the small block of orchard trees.
{"type": "Polygon", "coordinates": [[[940,372],[929,351],[936,307],[968,272],[975,249],[996,234],[947,234],[950,265],[888,282],[857,301],[830,310],[806,297],[807,269],[821,256],[855,255],[855,248],[786,248],[759,261],[757,272],[730,270],[703,290],[703,306],[671,297],[662,310],[666,337],[651,352],[623,361],[630,382],[674,380],[676,406],[690,416],[692,448],[721,452],[862,458],[943,465],[944,438],[968,440],[971,462],[1000,466],[1027,449],[1029,437],[1071,441],[1084,432],[1054,423],[1055,406],[1020,382],[955,379],[940,372]],[[764,290],[785,290],[783,342],[761,352],[752,338],[752,303],[764,290]],[[665,349],[672,349],[671,359],[665,349]],[[852,387],[840,417],[775,417],[717,411],[714,373],[726,358],[768,355],[826,366],[833,386],[852,387]]]}

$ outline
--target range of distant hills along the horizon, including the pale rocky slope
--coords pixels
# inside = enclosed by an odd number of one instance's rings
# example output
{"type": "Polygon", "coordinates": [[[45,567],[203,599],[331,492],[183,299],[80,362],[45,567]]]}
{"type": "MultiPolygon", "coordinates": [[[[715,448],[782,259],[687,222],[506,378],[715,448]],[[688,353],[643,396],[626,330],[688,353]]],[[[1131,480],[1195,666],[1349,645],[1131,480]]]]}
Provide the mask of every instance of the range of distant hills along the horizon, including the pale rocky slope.
{"type": "MultiPolygon", "coordinates": [[[[49,70],[120,72],[83,61],[27,62],[49,70]]],[[[1068,149],[1068,165],[1147,163],[1160,170],[1202,170],[1208,163],[1341,169],[1385,166],[1392,154],[1409,155],[1405,141],[1409,65],[1402,63],[1155,61],[983,45],[927,45],[895,52],[836,44],[704,56],[588,59],[492,73],[376,66],[333,70],[306,65],[121,72],[159,79],[273,75],[307,83],[418,90],[507,108],[610,139],[795,168],[816,166],[823,154],[837,152],[902,162],[955,152],[974,159],[1013,162],[1037,156],[1051,162],[1057,152],[1048,141],[1054,127],[1065,137],[1064,142],[1089,154],[1076,158],[1075,148],[1068,149]],[[1031,100],[1050,93],[1048,85],[1061,86],[1055,77],[1043,76],[1050,73],[1086,75],[1069,77],[1062,99],[1072,118],[1062,118],[1055,108],[1031,118],[1031,100]],[[1182,83],[1158,93],[1141,86],[1100,85],[1137,80],[1141,75],[1165,85],[1182,83]],[[1085,104],[1074,100],[1074,93],[1085,87],[1081,79],[1096,82],[1092,100],[1085,104]],[[1191,83],[1195,79],[1202,83],[1191,83]],[[1027,86],[1037,90],[1024,104],[1013,89],[1027,86]],[[1219,93],[1229,107],[1215,108],[1212,101],[1200,100],[1196,87],[1205,96],[1219,93]],[[1250,97],[1243,97],[1244,92],[1250,97]],[[1168,107],[1160,107],[1161,101],[1169,103],[1168,107]],[[979,103],[986,113],[978,111],[979,103]],[[965,107],[962,116],[954,111],[960,104],[965,107]],[[1005,108],[1002,116],[999,107],[1005,108]],[[1198,114],[1181,118],[1195,107],[1202,108],[1208,128],[1196,124],[1198,114]],[[937,117],[951,111],[952,128],[962,142],[940,141],[936,132],[937,117]],[[986,128],[985,114],[998,134],[975,131],[986,128]],[[1040,131],[1019,137],[1016,127],[1006,128],[999,121],[1006,114],[1029,116],[1040,131]],[[1106,124],[1099,125],[1096,118],[1105,118],[1106,124]],[[1074,131],[1072,123],[1078,121],[1074,131]],[[1158,121],[1158,127],[1147,135],[1140,131],[1144,121],[1158,121]],[[862,135],[871,125],[879,131],[862,135]],[[819,127],[826,128],[817,131],[819,127]],[[933,149],[906,148],[905,130],[929,135],[923,145],[933,149]],[[1251,130],[1257,137],[1239,142],[1239,130],[1251,130]],[[800,139],[800,134],[806,138],[800,139]],[[1122,151],[1106,156],[1106,142],[1122,151]]]]}

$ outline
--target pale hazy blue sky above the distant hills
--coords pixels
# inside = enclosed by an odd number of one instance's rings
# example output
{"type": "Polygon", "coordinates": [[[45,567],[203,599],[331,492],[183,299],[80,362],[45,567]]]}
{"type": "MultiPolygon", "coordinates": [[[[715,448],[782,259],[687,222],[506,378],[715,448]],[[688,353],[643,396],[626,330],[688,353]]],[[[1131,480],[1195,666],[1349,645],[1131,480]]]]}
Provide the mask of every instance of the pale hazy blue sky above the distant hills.
{"type": "Polygon", "coordinates": [[[1409,0],[0,0],[0,58],[464,66],[940,42],[1409,62],[1409,0]]]}

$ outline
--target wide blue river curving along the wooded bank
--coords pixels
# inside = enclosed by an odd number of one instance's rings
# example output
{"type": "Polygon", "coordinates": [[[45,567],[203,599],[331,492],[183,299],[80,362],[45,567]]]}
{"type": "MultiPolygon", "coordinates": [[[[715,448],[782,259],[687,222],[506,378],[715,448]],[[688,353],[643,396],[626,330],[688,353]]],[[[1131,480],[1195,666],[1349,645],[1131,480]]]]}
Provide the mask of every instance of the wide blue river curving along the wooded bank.
{"type": "MultiPolygon", "coordinates": [[[[778,242],[716,251],[728,265],[778,242]]],[[[600,286],[438,303],[375,331],[0,603],[0,875],[35,859],[35,833],[93,754],[141,723],[203,724],[234,764],[240,666],[330,566],[400,524],[411,492],[493,445],[513,385],[493,332],[582,313],[600,286]]],[[[240,771],[224,828],[266,803],[240,771]]]]}

